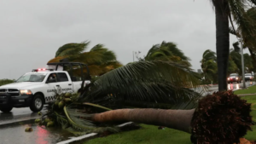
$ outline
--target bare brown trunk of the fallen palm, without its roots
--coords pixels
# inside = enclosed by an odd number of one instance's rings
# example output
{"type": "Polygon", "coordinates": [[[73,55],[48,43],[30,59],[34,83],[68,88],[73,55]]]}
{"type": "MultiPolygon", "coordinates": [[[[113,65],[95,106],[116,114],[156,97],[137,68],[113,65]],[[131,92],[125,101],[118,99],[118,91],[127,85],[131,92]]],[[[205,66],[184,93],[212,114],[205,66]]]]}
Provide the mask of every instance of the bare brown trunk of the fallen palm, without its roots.
{"type": "Polygon", "coordinates": [[[89,118],[98,123],[132,121],[136,123],[166,126],[190,133],[190,124],[195,109],[191,110],[163,110],[153,108],[118,109],[96,113],[89,118]]]}

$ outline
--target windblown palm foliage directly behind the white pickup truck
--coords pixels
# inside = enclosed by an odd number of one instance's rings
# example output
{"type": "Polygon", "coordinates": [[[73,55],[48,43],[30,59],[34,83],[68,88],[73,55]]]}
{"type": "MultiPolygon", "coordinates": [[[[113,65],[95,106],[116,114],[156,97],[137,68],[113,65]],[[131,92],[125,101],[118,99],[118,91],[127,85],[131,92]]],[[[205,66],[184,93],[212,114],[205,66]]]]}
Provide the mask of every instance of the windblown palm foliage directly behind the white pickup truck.
{"type": "Polygon", "coordinates": [[[64,58],[73,62],[82,62],[88,65],[92,76],[100,76],[121,66],[113,51],[104,48],[104,45],[97,44],[90,51],[84,52],[88,45],[89,42],[67,43],[56,51],[55,58],[48,63],[60,62],[64,58]]]}

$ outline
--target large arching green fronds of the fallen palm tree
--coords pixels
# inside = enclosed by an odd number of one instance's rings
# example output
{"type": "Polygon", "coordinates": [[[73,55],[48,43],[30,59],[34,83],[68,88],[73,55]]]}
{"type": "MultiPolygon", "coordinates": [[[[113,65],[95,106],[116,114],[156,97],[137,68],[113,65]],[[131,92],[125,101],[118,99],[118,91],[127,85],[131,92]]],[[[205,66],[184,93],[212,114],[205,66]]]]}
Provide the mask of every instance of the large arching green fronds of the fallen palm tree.
{"type": "Polygon", "coordinates": [[[198,84],[198,76],[187,66],[171,61],[139,61],[102,75],[83,96],[84,101],[104,107],[124,101],[175,105],[200,97],[189,89],[198,84]]]}

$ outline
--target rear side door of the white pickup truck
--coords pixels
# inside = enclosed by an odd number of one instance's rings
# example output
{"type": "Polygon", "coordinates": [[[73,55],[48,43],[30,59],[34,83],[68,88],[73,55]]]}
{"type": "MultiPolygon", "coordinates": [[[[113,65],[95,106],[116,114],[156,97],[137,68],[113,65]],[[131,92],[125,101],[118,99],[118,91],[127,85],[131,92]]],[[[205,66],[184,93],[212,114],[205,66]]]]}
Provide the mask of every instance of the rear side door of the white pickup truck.
{"type": "Polygon", "coordinates": [[[58,84],[61,87],[62,93],[72,93],[73,92],[73,83],[71,79],[67,78],[66,72],[57,73],[58,84]]]}

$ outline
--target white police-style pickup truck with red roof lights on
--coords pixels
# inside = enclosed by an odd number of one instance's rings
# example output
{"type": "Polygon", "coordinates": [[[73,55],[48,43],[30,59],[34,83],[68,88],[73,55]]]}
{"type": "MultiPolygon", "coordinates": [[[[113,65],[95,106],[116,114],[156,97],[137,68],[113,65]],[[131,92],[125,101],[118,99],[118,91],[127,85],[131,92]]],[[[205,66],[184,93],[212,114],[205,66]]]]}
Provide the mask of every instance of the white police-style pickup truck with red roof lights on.
{"type": "MultiPolygon", "coordinates": [[[[84,86],[86,84],[90,81],[84,81],[84,86]]],[[[67,71],[38,69],[26,72],[15,83],[0,87],[0,110],[10,112],[13,107],[30,107],[32,112],[39,112],[45,103],[55,101],[55,92],[79,92],[81,85],[82,81],[77,81],[67,71]]]]}

